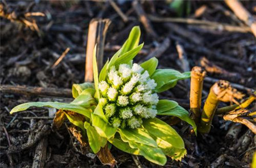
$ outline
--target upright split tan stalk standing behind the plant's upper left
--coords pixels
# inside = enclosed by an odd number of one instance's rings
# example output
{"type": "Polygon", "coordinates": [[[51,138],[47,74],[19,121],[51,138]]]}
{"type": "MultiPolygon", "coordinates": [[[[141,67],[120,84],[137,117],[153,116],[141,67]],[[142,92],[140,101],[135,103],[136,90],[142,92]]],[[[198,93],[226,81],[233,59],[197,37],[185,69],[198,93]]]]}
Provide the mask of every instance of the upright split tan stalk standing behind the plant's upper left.
{"type": "Polygon", "coordinates": [[[103,67],[104,43],[110,23],[109,19],[92,19],[90,21],[86,48],[85,81],[93,81],[93,49],[96,44],[98,70],[103,67]]]}

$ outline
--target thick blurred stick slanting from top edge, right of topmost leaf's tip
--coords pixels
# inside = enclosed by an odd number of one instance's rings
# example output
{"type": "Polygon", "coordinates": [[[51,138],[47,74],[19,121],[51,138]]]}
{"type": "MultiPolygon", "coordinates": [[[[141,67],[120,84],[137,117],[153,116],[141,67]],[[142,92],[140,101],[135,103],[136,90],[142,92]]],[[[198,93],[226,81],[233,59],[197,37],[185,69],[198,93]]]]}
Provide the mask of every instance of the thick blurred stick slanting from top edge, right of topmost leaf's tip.
{"type": "Polygon", "coordinates": [[[154,38],[158,37],[158,35],[154,31],[154,29],[152,28],[150,20],[147,18],[146,14],[141,6],[141,3],[137,0],[133,1],[133,8],[136,11],[137,15],[139,16],[139,20],[141,20],[147,33],[154,38]]]}

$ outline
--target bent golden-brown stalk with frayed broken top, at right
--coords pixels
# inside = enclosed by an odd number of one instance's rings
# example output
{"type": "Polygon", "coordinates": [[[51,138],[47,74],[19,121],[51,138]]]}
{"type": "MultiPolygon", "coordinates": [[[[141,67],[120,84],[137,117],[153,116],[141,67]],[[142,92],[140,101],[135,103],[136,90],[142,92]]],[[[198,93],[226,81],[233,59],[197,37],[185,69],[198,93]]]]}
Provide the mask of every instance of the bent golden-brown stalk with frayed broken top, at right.
{"type": "Polygon", "coordinates": [[[203,113],[201,115],[199,132],[208,133],[210,131],[210,125],[220,101],[235,102],[239,104],[235,98],[241,99],[244,95],[232,88],[230,83],[225,80],[216,82],[211,88],[205,101],[203,113]]]}

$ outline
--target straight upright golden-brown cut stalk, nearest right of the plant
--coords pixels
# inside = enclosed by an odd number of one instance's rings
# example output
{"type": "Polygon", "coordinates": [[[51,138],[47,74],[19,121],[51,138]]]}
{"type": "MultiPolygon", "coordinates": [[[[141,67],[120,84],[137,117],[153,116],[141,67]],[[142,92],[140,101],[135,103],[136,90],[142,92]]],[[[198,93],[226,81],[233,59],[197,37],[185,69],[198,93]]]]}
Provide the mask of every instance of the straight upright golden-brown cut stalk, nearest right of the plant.
{"type": "Polygon", "coordinates": [[[203,91],[203,81],[206,72],[201,67],[193,67],[191,71],[191,91],[190,91],[190,110],[193,119],[198,123],[201,116],[201,99],[203,91]]]}

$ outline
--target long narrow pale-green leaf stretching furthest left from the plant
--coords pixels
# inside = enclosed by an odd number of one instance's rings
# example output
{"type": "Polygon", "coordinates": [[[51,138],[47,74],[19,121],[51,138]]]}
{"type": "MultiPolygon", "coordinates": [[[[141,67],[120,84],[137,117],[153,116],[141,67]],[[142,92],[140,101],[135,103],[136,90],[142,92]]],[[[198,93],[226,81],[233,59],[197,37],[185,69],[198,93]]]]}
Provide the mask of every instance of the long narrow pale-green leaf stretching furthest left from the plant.
{"type": "Polygon", "coordinates": [[[60,109],[60,110],[69,110],[73,111],[75,113],[79,113],[82,115],[85,115],[86,117],[90,118],[90,115],[92,114],[91,110],[85,109],[84,107],[75,105],[75,104],[65,104],[61,102],[27,102],[25,104],[18,105],[14,107],[11,111],[10,114],[13,114],[18,111],[24,111],[27,110],[29,107],[52,107],[55,109],[60,109]]]}

